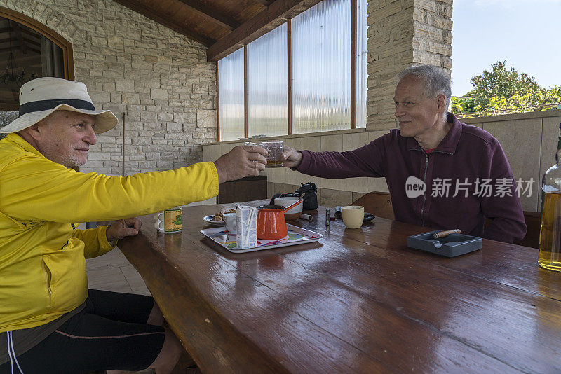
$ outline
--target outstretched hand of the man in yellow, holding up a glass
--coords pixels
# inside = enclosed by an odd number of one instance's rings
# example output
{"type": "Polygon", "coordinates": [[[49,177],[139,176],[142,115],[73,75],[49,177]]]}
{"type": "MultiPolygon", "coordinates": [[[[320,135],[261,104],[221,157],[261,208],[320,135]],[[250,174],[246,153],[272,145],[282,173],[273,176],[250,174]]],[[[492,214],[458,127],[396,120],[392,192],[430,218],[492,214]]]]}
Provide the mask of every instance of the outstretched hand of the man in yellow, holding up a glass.
{"type": "Polygon", "coordinates": [[[260,146],[236,146],[215,161],[218,183],[258,176],[259,170],[265,169],[266,155],[266,149],[260,146]]]}

